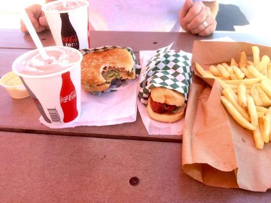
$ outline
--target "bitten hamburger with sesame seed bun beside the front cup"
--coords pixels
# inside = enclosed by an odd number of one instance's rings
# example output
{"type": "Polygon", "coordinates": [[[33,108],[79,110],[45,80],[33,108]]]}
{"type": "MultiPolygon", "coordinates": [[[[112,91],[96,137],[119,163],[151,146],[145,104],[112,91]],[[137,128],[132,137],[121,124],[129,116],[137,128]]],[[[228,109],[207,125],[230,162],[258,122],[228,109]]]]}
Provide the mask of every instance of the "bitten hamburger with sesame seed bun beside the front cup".
{"type": "Polygon", "coordinates": [[[134,78],[134,60],[126,49],[107,49],[83,56],[81,85],[86,91],[104,91],[114,79],[134,78]]]}

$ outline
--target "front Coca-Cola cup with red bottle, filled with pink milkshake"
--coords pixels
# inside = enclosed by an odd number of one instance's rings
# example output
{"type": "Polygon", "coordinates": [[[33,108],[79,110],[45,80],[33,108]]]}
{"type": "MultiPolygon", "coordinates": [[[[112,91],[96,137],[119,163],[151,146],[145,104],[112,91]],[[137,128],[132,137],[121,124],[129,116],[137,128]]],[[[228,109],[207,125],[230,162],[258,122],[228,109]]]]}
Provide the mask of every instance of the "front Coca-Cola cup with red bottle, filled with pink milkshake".
{"type": "Polygon", "coordinates": [[[12,64],[49,127],[65,127],[81,112],[82,54],[70,47],[45,47],[49,59],[37,49],[19,56],[12,64]]]}

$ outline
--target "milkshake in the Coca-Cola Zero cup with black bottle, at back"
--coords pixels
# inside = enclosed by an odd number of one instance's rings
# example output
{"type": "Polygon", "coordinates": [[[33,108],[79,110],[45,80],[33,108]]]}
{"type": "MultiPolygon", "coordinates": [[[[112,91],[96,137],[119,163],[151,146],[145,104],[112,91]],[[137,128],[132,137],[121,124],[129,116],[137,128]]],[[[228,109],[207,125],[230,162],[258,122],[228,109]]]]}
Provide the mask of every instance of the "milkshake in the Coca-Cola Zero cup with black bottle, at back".
{"type": "Polygon", "coordinates": [[[84,0],[54,1],[45,4],[45,14],[53,39],[57,46],[88,49],[88,2],[84,0]]]}

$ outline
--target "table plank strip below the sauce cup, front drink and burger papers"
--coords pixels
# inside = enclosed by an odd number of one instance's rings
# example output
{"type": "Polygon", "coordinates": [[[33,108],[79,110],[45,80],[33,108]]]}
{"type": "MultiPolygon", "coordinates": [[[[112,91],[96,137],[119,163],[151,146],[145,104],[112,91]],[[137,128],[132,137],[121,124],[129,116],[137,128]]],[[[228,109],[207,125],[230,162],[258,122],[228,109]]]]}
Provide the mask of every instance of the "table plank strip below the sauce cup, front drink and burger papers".
{"type": "Polygon", "coordinates": [[[0,88],[0,130],[58,134],[64,136],[82,136],[94,138],[113,138],[129,140],[150,140],[161,142],[181,142],[178,135],[150,136],[137,114],[132,123],[107,126],[78,126],[74,128],[52,129],[40,123],[40,113],[30,97],[14,99],[4,88],[0,88]]]}

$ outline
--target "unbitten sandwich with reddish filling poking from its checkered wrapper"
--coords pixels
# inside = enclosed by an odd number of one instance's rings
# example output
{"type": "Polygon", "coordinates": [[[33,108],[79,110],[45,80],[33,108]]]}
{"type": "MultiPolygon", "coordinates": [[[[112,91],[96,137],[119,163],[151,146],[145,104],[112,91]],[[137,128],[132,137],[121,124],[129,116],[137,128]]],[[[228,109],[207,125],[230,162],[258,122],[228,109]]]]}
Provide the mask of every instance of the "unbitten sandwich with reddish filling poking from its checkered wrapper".
{"type": "Polygon", "coordinates": [[[185,97],[182,93],[165,87],[155,87],[150,91],[147,111],[150,118],[172,123],[185,116],[185,97]]]}

